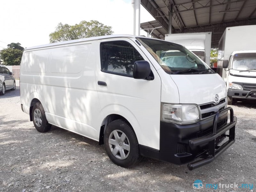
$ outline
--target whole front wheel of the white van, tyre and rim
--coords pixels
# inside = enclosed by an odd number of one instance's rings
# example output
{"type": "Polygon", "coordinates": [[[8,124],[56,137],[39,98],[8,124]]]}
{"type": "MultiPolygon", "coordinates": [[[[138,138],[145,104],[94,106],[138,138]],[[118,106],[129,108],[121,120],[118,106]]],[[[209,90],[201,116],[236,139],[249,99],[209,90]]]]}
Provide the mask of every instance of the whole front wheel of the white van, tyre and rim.
{"type": "Polygon", "coordinates": [[[131,167],[140,161],[137,137],[128,123],[117,119],[108,124],[104,133],[104,146],[111,161],[121,167],[131,167]],[[118,134],[118,139],[115,135],[118,134]]]}

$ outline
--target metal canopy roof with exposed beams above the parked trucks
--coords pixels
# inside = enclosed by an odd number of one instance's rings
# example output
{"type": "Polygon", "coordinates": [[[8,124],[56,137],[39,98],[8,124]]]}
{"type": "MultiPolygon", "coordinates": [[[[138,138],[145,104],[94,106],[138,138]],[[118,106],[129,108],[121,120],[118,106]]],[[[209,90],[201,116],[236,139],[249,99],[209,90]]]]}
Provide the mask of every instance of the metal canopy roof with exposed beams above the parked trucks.
{"type": "Polygon", "coordinates": [[[172,33],[212,31],[212,47],[218,47],[225,28],[256,24],[256,0],[140,0],[156,19],[140,27],[156,38],[168,33],[172,11],[172,33]]]}

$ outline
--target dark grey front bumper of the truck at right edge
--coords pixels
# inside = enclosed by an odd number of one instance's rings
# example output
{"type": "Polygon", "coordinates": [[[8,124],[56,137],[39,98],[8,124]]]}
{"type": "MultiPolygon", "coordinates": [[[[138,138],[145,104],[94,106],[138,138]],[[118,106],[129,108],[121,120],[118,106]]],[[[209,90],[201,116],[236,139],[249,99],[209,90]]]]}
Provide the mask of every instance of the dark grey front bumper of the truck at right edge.
{"type": "Polygon", "coordinates": [[[246,90],[236,90],[236,89],[228,89],[228,96],[233,99],[252,99],[256,100],[256,96],[253,94],[256,90],[246,91],[246,90]]]}

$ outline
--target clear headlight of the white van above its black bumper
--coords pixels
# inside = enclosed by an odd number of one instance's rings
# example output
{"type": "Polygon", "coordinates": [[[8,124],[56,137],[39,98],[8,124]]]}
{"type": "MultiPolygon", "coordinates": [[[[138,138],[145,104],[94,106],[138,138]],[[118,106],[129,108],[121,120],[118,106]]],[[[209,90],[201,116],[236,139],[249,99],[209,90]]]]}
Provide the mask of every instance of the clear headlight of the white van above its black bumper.
{"type": "Polygon", "coordinates": [[[199,116],[197,105],[162,103],[161,121],[176,124],[193,124],[199,121],[199,116]]]}

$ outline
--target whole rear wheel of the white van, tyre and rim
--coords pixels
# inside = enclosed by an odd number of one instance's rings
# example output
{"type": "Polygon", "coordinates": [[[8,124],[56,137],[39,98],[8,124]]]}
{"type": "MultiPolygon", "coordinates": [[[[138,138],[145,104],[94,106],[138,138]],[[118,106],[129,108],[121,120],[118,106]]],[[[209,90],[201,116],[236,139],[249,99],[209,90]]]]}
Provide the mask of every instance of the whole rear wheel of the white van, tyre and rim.
{"type": "Polygon", "coordinates": [[[47,132],[51,129],[51,124],[48,123],[44,108],[41,103],[36,103],[32,108],[32,120],[36,130],[39,132],[47,132]]]}

